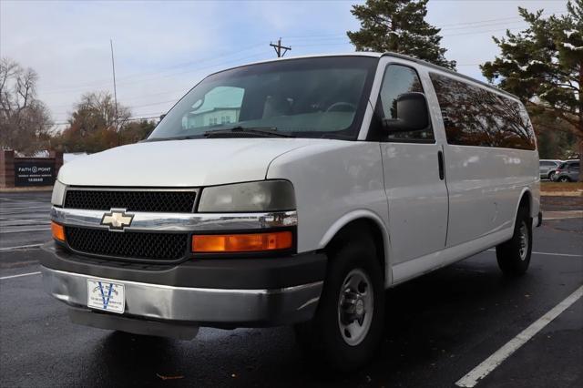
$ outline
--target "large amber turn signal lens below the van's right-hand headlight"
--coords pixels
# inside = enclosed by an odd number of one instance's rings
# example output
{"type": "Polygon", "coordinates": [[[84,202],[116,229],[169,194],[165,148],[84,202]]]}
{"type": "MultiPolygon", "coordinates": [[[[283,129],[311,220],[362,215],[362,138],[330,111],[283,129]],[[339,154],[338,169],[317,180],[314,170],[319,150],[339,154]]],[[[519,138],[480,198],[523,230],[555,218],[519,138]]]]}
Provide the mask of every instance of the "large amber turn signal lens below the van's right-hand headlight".
{"type": "Polygon", "coordinates": [[[256,252],[292,248],[291,231],[252,234],[208,234],[192,236],[195,253],[256,252]]]}

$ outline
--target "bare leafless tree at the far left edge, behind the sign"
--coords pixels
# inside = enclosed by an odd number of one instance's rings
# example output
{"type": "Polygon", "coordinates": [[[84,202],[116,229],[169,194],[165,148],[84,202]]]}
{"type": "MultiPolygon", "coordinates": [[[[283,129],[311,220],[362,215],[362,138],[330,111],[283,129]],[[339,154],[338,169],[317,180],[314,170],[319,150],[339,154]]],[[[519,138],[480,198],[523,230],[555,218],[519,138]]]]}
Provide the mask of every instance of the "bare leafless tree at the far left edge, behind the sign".
{"type": "Polygon", "coordinates": [[[46,148],[50,112],[36,99],[38,75],[9,58],[0,60],[0,148],[33,154],[46,148]]]}

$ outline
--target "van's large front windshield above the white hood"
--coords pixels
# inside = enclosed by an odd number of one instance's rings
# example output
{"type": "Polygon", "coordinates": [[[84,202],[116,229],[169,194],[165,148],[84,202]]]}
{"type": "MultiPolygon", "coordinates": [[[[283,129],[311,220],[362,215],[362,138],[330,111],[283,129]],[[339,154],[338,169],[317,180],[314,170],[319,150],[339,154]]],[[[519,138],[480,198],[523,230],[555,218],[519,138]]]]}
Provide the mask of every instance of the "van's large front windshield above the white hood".
{"type": "Polygon", "coordinates": [[[329,56],[242,66],[205,78],[148,140],[260,129],[302,138],[356,139],[378,58],[329,56]]]}

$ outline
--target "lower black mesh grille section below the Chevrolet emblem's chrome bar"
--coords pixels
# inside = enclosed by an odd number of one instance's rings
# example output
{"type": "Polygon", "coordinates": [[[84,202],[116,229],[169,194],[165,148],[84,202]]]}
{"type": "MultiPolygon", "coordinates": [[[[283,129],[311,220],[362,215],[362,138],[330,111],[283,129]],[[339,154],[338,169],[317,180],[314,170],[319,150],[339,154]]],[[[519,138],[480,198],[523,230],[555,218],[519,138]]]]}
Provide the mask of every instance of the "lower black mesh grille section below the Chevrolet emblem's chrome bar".
{"type": "Polygon", "coordinates": [[[73,250],[101,256],[146,260],[179,260],[187,250],[185,233],[115,232],[65,227],[73,250]]]}

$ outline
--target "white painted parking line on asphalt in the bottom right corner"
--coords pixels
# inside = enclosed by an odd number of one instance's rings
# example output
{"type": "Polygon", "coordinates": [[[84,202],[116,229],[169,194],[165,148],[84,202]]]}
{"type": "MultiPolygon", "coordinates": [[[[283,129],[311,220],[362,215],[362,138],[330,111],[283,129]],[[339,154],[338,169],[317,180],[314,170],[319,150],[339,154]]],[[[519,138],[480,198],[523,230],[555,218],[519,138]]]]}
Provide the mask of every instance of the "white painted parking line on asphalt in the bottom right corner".
{"type": "Polygon", "coordinates": [[[474,368],[470,373],[467,373],[464,377],[459,379],[455,385],[458,387],[473,387],[481,379],[485,378],[488,373],[494,371],[498,365],[506,360],[512,353],[516,352],[522,345],[527,343],[532,337],[540,332],[548,323],[553,321],[560,315],[561,312],[567,310],[573,303],[578,301],[579,298],[583,296],[583,286],[580,286],[575,292],[570,294],[564,301],[561,301],[557,306],[553,307],[545,315],[540,317],[537,322],[534,322],[527,327],[524,331],[520,332],[516,337],[514,337],[506,345],[498,349],[490,357],[480,363],[476,368],[474,368]]]}

